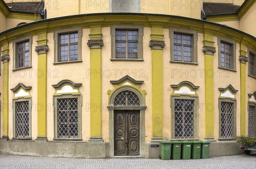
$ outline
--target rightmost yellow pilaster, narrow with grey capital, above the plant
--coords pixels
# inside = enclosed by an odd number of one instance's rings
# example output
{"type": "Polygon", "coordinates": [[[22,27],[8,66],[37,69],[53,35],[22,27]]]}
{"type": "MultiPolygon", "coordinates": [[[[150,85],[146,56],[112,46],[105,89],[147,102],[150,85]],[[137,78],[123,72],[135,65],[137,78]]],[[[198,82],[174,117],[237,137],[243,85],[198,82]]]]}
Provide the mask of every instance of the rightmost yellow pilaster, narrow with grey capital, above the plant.
{"type": "Polygon", "coordinates": [[[240,44],[240,135],[246,135],[246,123],[245,123],[245,104],[246,104],[246,86],[245,86],[245,77],[246,77],[246,62],[248,58],[246,57],[246,46],[240,44]]]}

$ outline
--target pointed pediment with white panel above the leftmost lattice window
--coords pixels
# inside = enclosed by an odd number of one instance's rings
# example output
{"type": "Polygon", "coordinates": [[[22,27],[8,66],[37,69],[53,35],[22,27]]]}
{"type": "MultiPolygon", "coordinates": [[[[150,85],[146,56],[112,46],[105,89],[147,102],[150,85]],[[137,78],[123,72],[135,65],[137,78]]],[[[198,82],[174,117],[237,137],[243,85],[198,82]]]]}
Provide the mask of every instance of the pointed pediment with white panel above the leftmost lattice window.
{"type": "Polygon", "coordinates": [[[15,88],[11,89],[11,91],[14,92],[14,98],[31,97],[31,88],[31,86],[25,86],[23,83],[18,83],[17,86],[15,86],[15,88]]]}

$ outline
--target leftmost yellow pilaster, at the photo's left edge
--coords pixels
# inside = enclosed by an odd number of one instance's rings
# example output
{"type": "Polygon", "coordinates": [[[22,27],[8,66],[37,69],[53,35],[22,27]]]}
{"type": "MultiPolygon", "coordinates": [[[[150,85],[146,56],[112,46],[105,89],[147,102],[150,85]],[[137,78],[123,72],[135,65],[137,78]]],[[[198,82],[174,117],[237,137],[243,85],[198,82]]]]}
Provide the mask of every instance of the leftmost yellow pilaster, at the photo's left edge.
{"type": "Polygon", "coordinates": [[[9,43],[3,45],[3,140],[9,140],[9,43]]]}

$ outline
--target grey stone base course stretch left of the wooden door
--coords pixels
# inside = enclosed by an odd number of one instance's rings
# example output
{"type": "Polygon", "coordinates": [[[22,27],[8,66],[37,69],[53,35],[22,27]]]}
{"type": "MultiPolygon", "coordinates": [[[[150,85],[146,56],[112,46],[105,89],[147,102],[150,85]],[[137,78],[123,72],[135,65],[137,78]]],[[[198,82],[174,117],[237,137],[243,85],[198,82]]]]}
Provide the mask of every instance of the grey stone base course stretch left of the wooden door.
{"type": "Polygon", "coordinates": [[[109,158],[109,143],[84,141],[0,140],[0,153],[41,157],[109,158]]]}

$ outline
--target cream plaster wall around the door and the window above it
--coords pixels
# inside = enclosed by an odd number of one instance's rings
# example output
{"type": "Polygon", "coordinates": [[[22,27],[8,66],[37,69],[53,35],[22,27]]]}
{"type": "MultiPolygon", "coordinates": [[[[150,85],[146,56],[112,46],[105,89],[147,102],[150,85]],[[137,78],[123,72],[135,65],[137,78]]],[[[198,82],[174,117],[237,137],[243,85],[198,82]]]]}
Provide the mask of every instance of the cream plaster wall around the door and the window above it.
{"type": "MultiPolygon", "coordinates": [[[[143,38],[143,62],[124,62],[124,61],[111,61],[111,41],[110,28],[102,28],[104,46],[102,47],[102,104],[109,103],[107,91],[113,89],[113,85],[110,80],[119,80],[121,77],[128,74],[135,80],[143,80],[144,83],[140,89],[147,91],[145,104],[147,109],[145,110],[145,140],[148,142],[151,139],[151,48],[148,46],[150,40],[149,34],[151,34],[151,28],[144,27],[143,38]],[[105,72],[105,73],[104,73],[105,72]],[[108,73],[108,72],[111,72],[108,73]]],[[[108,137],[109,133],[109,115],[108,109],[102,110],[102,137],[108,137]]]]}

